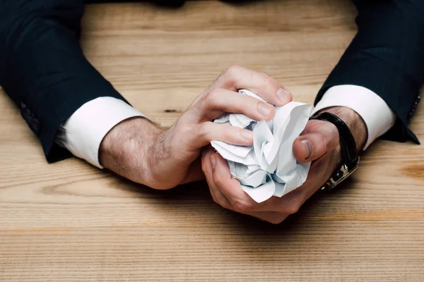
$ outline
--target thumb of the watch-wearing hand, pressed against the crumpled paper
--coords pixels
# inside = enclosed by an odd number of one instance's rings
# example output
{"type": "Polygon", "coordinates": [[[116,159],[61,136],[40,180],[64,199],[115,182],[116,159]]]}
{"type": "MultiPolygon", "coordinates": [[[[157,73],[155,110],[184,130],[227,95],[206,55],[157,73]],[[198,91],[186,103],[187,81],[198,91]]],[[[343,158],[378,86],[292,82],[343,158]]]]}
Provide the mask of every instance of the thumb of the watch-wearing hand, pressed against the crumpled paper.
{"type": "Polygon", "coordinates": [[[300,162],[314,161],[336,149],[338,144],[338,130],[333,123],[312,120],[293,142],[293,154],[300,162]]]}

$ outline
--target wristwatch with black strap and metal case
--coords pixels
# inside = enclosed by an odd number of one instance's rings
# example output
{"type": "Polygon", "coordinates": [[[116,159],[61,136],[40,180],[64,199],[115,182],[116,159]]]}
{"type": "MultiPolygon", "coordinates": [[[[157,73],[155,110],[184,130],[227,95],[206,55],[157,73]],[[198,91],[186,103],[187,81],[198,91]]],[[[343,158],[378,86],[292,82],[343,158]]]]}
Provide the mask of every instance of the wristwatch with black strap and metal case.
{"type": "Polygon", "coordinates": [[[338,184],[343,182],[348,176],[350,176],[359,165],[359,155],[356,149],[355,138],[348,128],[348,125],[344,123],[338,116],[331,113],[315,114],[310,118],[319,121],[328,121],[336,125],[338,135],[340,136],[340,147],[342,162],[340,168],[336,168],[336,171],[331,175],[330,179],[324,184],[321,190],[331,190],[338,184]]]}

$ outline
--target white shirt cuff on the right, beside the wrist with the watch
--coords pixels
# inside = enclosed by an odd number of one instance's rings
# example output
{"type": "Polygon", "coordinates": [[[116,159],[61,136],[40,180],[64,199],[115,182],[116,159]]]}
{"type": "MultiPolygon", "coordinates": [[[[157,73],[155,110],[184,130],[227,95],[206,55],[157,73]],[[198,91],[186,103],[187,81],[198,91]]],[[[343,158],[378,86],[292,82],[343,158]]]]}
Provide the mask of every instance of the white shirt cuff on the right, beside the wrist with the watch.
{"type": "Polygon", "coordinates": [[[364,150],[377,137],[387,133],[396,121],[396,115],[381,97],[358,85],[337,85],[329,88],[315,106],[312,114],[331,106],[346,106],[363,118],[368,130],[364,150]]]}

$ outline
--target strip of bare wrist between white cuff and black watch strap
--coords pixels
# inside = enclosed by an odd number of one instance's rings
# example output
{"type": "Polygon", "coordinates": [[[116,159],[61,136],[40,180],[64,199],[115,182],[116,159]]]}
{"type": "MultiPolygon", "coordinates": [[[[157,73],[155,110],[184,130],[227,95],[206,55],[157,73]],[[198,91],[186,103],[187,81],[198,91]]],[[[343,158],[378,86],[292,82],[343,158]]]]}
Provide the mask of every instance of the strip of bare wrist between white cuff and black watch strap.
{"type": "Polygon", "coordinates": [[[353,109],[346,106],[332,106],[330,108],[322,109],[319,113],[328,112],[338,116],[351,130],[353,138],[355,139],[356,149],[358,152],[362,151],[367,142],[367,125],[363,118],[353,109]]]}

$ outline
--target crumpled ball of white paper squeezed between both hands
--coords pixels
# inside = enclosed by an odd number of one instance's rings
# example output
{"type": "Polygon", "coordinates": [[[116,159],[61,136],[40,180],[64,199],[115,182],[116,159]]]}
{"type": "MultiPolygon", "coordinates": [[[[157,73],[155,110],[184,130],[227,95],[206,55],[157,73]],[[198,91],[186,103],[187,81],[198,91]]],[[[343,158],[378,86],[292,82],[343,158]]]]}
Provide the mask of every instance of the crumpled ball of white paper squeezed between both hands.
{"type": "MultiPolygon", "coordinates": [[[[249,90],[239,92],[264,101],[249,90]]],[[[282,197],[305,183],[311,163],[295,159],[293,141],[305,128],[311,109],[310,104],[290,102],[276,106],[276,115],[269,122],[227,113],[214,121],[253,131],[251,146],[220,141],[212,141],[211,145],[228,161],[232,177],[240,181],[242,189],[256,202],[282,197]]]]}

